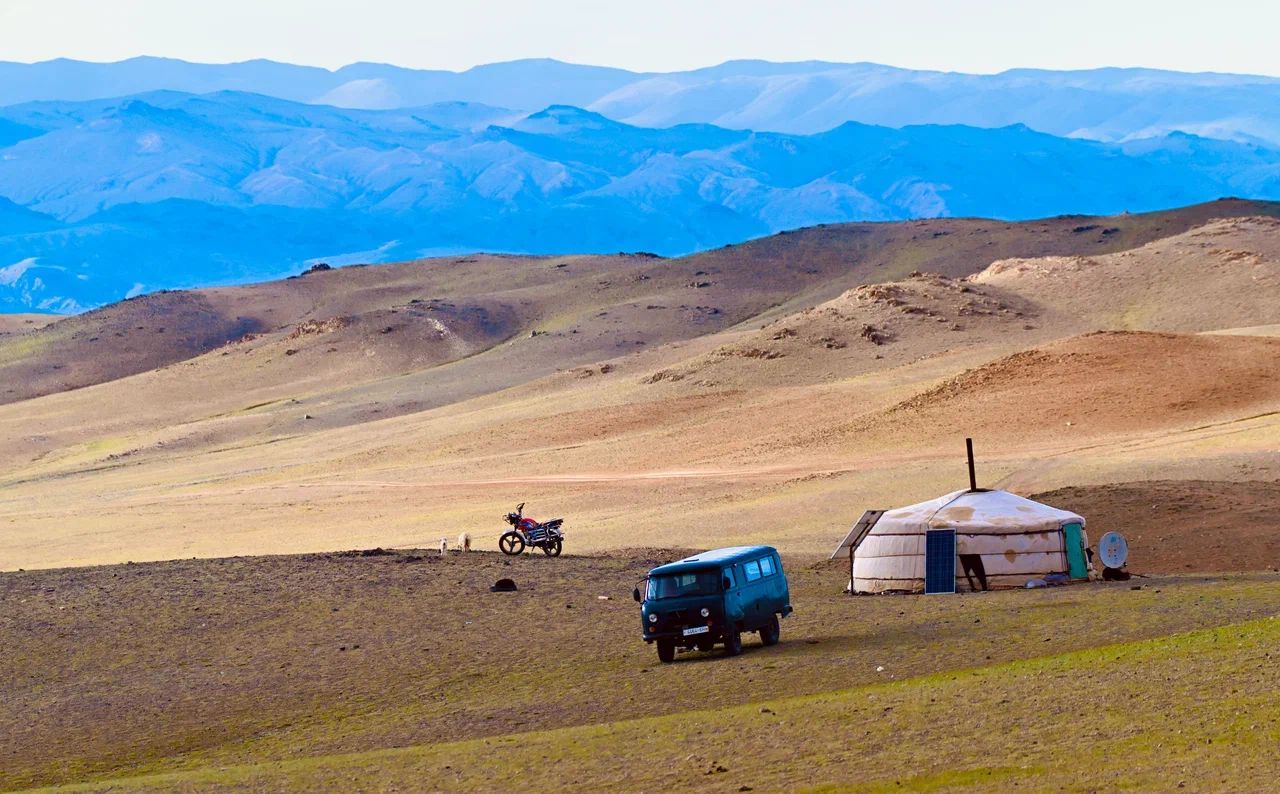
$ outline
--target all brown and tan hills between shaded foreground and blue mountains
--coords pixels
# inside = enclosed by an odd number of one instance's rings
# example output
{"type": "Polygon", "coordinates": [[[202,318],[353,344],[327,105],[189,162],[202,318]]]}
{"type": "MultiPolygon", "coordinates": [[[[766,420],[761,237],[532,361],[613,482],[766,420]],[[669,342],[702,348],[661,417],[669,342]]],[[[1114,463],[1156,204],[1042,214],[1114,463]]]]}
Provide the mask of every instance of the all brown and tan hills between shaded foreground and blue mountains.
{"type": "Polygon", "coordinates": [[[440,524],[483,546],[518,501],[572,515],[580,549],[812,551],[954,485],[966,433],[984,482],[1025,493],[1280,478],[1274,214],[842,224],[133,298],[0,337],[0,551],[306,551],[440,524]]]}

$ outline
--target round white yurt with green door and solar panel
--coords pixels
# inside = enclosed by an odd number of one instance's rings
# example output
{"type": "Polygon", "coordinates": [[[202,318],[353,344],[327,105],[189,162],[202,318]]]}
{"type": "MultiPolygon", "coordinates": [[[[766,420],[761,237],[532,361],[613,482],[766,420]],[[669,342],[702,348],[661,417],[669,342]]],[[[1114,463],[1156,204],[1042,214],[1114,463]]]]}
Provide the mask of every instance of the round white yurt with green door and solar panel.
{"type": "Polygon", "coordinates": [[[868,511],[836,555],[856,593],[954,593],[1087,579],[1084,519],[1007,490],[956,490],[868,511]]]}

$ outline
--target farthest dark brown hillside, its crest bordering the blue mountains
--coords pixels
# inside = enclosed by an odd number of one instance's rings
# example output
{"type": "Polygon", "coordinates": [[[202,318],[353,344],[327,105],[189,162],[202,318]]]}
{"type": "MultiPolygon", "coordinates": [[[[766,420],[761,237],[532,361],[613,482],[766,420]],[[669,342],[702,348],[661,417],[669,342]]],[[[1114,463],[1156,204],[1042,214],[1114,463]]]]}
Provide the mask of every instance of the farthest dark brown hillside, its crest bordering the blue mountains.
{"type": "MultiPolygon", "coordinates": [[[[1226,200],[1116,218],[855,223],[776,234],[669,261],[477,255],[157,293],[17,338],[0,337],[0,382],[6,384],[0,402],[156,369],[250,333],[289,333],[303,323],[388,312],[415,300],[502,306],[515,323],[512,333],[576,332],[579,338],[563,343],[544,341],[544,352],[535,355],[541,364],[522,368],[522,377],[548,374],[557,366],[590,361],[591,355],[608,357],[611,350],[618,355],[628,346],[701,336],[769,310],[805,309],[858,284],[904,278],[911,270],[959,277],[998,259],[1123,251],[1208,218],[1268,214],[1280,215],[1280,206],[1226,200]],[[595,343],[586,344],[584,338],[595,343]],[[576,355],[584,350],[590,355],[576,355]]],[[[522,356],[526,365],[532,361],[522,356]]],[[[499,379],[495,385],[517,382],[499,379]]]]}

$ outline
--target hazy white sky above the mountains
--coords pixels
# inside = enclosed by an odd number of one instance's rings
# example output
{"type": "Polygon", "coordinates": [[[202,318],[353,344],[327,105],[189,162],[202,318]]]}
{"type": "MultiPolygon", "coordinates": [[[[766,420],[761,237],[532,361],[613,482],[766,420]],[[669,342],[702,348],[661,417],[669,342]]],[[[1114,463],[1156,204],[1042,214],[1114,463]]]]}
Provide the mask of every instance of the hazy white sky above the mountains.
{"type": "Polygon", "coordinates": [[[1277,0],[0,0],[0,60],[675,70],[735,58],[1280,76],[1277,0]]]}

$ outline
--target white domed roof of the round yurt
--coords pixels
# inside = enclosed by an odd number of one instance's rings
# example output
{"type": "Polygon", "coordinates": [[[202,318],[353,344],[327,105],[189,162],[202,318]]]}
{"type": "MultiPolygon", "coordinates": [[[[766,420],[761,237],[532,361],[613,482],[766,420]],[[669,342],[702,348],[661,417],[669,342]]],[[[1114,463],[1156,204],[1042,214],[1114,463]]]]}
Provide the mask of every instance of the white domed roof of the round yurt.
{"type": "Polygon", "coordinates": [[[1007,490],[956,490],[884,512],[872,534],[914,534],[951,528],[960,533],[1016,534],[1050,531],[1073,523],[1083,526],[1084,517],[1007,490]]]}

